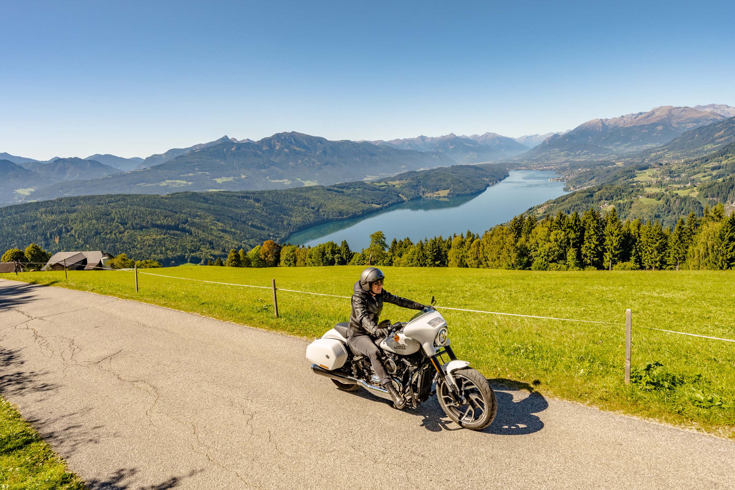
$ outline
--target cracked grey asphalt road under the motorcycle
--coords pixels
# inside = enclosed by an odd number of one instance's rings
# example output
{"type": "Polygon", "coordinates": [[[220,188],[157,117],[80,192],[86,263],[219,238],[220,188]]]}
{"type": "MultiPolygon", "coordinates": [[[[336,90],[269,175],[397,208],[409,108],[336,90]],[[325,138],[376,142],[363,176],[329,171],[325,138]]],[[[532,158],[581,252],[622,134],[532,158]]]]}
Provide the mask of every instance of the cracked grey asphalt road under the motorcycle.
{"type": "Polygon", "coordinates": [[[306,344],[0,280],[0,392],[93,489],[735,488],[731,441],[497,384],[476,433],[338,391],[306,344]]]}

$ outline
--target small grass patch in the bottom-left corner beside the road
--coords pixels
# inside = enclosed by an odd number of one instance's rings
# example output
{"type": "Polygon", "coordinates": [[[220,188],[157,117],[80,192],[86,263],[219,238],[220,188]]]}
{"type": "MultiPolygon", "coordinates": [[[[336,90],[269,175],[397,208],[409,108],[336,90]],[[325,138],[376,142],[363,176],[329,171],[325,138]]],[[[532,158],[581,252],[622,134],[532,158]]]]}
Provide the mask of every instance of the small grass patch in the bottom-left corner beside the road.
{"type": "Polygon", "coordinates": [[[0,397],[0,489],[85,488],[15,407],[0,397]]]}

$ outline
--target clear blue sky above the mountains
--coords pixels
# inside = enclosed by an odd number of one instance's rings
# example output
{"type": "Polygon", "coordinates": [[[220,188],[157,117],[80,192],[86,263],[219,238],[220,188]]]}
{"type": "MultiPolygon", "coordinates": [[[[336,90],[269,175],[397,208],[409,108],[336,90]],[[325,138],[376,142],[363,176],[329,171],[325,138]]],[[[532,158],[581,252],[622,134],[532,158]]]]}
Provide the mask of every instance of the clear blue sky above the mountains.
{"type": "Polygon", "coordinates": [[[571,129],[735,106],[734,2],[0,3],[0,151],[571,129]]]}

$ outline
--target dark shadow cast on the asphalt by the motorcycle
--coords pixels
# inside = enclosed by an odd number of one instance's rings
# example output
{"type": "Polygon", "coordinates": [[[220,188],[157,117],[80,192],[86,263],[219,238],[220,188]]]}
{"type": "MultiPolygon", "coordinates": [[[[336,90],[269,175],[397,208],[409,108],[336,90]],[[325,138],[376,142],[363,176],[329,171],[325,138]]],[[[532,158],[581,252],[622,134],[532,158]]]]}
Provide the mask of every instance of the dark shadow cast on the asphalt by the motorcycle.
{"type": "MultiPolygon", "coordinates": [[[[490,381],[490,385],[495,391],[495,398],[498,400],[498,415],[495,416],[492,424],[484,430],[480,430],[480,433],[498,436],[525,436],[544,428],[544,422],[536,414],[548,408],[548,402],[533,386],[505,378],[494,378],[487,381],[490,381]]],[[[373,396],[373,394],[362,389],[354,392],[354,394],[367,400],[392,406],[390,401],[373,396]]],[[[421,427],[431,430],[431,432],[465,430],[447,417],[439,406],[436,397],[429,398],[426,403],[421,404],[418,408],[404,408],[403,411],[407,414],[422,417],[421,427]]]]}

